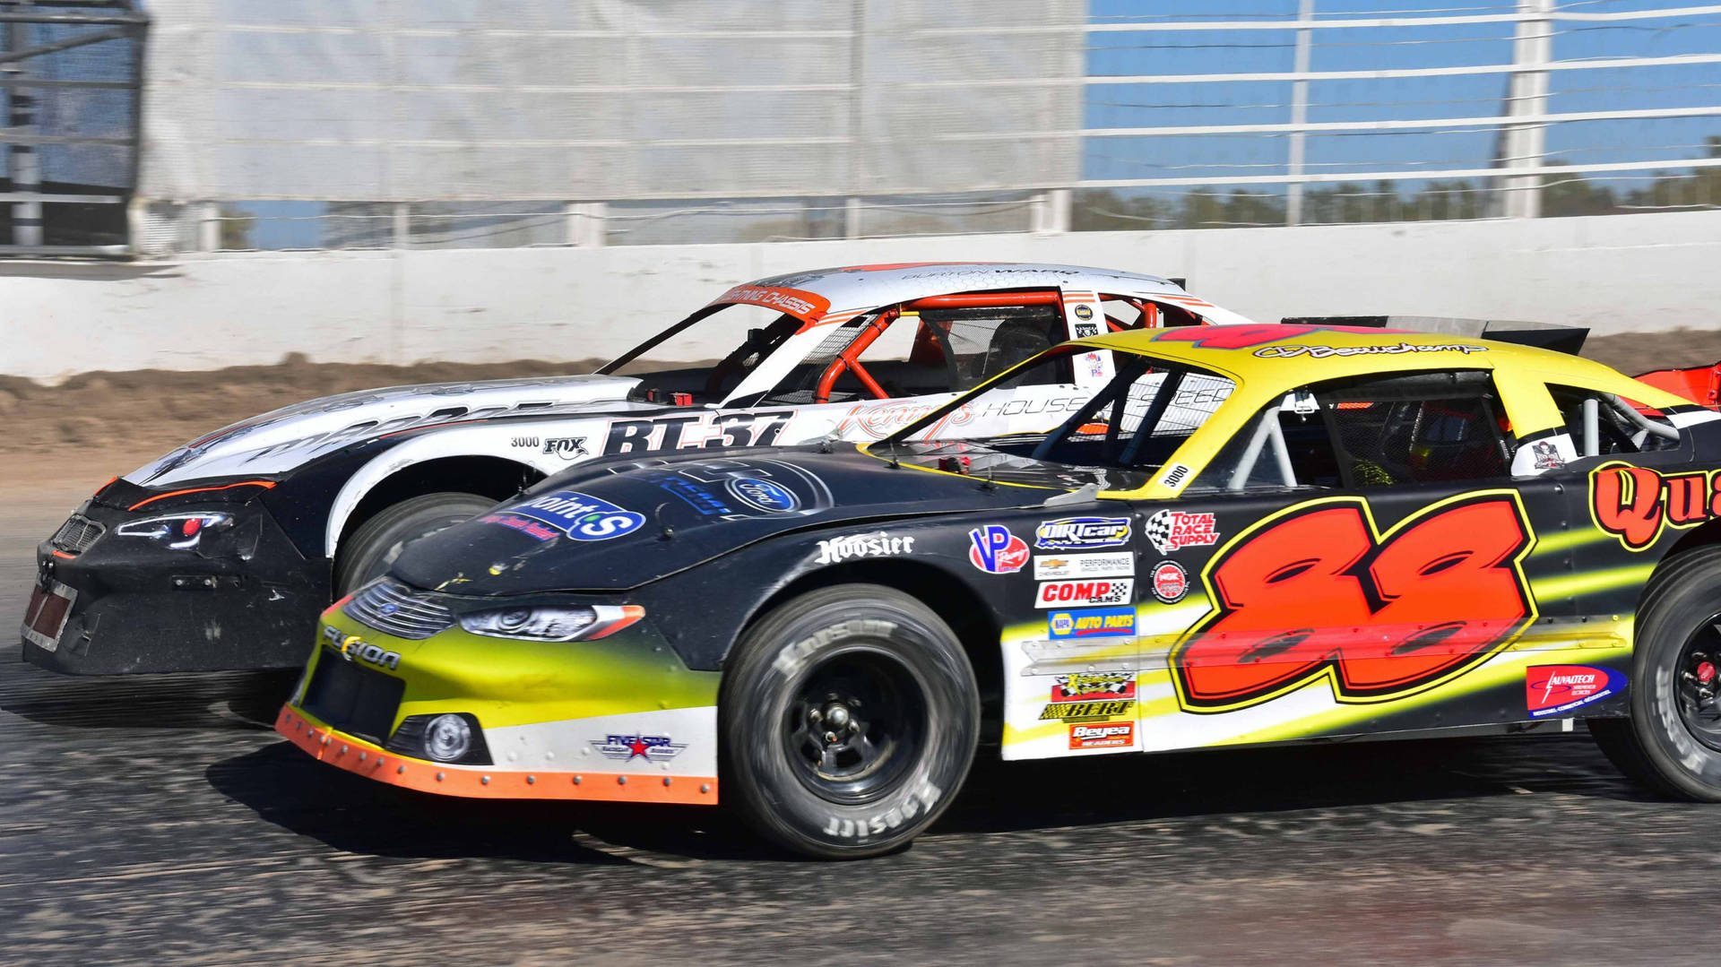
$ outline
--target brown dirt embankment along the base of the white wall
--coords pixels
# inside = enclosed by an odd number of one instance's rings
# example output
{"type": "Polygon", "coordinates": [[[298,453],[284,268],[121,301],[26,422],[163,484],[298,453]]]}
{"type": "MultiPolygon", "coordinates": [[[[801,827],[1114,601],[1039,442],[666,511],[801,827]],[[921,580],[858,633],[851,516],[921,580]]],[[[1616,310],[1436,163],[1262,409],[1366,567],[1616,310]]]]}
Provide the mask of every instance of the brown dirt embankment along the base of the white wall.
{"type": "MultiPolygon", "coordinates": [[[[1628,373],[1721,360],[1721,330],[1592,337],[1585,356],[1628,373]]],[[[312,363],[210,372],[83,373],[46,387],[0,377],[0,496],[88,492],[115,473],[236,420],[301,399],[415,382],[589,373],[604,360],[546,363],[312,363]]]]}

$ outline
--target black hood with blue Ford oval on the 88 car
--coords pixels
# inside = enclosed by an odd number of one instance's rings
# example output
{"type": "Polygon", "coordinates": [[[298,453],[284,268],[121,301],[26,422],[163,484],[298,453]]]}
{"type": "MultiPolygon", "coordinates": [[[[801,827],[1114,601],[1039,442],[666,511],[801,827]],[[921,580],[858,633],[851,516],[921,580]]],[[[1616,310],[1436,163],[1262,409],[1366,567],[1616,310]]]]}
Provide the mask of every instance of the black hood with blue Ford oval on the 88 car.
{"type": "Polygon", "coordinates": [[[392,575],[458,595],[623,590],[788,532],[983,514],[1069,490],[1050,473],[1045,484],[984,485],[852,446],[573,470],[406,545],[392,575]]]}

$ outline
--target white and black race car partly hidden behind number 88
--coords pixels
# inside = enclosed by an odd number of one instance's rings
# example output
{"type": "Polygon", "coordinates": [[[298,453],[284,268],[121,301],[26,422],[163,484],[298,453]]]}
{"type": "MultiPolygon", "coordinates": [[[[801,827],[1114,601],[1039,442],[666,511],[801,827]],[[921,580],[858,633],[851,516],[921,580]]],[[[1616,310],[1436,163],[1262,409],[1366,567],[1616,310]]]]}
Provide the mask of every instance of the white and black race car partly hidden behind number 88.
{"type": "MultiPolygon", "coordinates": [[[[79,674],[303,664],[305,628],[404,544],[582,461],[881,439],[1065,339],[1231,322],[1248,320],[1151,275],[862,265],[735,286],[590,375],[312,399],[86,501],[38,547],[24,656],[79,674]]],[[[1009,432],[1112,375],[1108,351],[1072,356],[943,435],[1009,432]]]]}

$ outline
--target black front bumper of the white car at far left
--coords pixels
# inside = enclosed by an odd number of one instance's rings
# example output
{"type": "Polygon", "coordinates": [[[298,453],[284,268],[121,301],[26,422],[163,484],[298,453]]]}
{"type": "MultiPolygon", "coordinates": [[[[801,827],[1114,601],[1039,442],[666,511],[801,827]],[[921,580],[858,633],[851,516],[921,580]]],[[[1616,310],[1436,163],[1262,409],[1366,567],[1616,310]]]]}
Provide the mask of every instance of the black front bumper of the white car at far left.
{"type": "Polygon", "coordinates": [[[294,668],[329,597],[327,561],[306,561],[262,502],[91,499],[36,547],[19,631],[26,661],[69,674],[294,668]],[[163,513],[231,523],[182,547],[120,533],[163,513]]]}

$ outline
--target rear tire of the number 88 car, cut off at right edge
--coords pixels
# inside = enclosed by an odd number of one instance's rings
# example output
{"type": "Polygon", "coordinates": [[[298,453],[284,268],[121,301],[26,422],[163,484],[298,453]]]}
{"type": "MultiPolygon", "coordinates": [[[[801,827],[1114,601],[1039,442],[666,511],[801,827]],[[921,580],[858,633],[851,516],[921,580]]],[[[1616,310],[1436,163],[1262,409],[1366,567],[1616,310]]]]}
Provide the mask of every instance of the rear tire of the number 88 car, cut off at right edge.
{"type": "MultiPolygon", "coordinates": [[[[1590,719],[1590,735],[1626,776],[1662,793],[1721,802],[1721,747],[1687,718],[1681,681],[1695,637],[1712,635],[1721,614],[1721,547],[1668,559],[1637,611],[1632,656],[1632,718],[1590,719]]],[[[1721,638],[1718,638],[1721,642],[1721,638]]]]}

